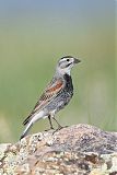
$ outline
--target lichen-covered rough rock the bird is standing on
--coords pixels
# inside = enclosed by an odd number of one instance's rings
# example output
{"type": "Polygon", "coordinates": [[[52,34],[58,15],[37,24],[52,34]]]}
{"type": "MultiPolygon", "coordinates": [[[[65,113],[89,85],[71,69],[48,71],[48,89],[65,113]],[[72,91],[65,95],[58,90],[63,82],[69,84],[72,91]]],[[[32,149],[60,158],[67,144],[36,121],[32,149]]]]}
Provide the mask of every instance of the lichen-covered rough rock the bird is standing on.
{"type": "Polygon", "coordinates": [[[117,132],[77,125],[0,144],[0,175],[117,175],[117,132]]]}

